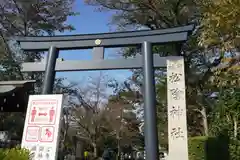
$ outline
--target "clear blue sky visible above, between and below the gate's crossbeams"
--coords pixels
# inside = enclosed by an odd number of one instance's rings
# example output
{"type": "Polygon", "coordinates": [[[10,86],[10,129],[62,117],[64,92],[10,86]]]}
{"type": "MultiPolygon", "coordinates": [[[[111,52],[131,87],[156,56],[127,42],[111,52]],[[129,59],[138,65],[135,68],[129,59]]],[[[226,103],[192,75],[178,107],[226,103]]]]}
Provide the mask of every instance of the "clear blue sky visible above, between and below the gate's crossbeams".
{"type": "MultiPolygon", "coordinates": [[[[97,12],[92,6],[85,5],[83,0],[76,0],[74,5],[74,11],[79,12],[79,16],[69,17],[67,23],[72,24],[76,30],[72,32],[64,32],[61,34],[86,34],[86,33],[101,33],[114,30],[114,26],[109,26],[111,20],[110,12],[97,12]]],[[[113,58],[117,56],[116,49],[105,50],[106,58],[113,58]]],[[[62,51],[59,57],[64,60],[90,60],[91,50],[75,50],[75,51],[62,51]]],[[[97,71],[89,72],[61,72],[57,73],[57,77],[66,77],[68,81],[82,82],[89,76],[94,76],[97,71]]],[[[113,70],[104,71],[108,77],[115,78],[123,81],[131,75],[127,70],[113,70]]],[[[98,75],[98,74],[97,74],[98,75]]]]}

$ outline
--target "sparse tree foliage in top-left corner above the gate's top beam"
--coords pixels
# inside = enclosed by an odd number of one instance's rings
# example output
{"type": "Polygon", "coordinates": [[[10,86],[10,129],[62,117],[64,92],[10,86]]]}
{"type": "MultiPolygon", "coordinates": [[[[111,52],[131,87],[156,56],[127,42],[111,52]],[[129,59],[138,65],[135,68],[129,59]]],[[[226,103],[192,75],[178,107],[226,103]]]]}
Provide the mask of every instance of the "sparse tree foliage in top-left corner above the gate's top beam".
{"type": "Polygon", "coordinates": [[[73,0],[10,0],[0,4],[2,32],[6,36],[53,35],[56,31],[73,30],[66,24],[73,0]]]}

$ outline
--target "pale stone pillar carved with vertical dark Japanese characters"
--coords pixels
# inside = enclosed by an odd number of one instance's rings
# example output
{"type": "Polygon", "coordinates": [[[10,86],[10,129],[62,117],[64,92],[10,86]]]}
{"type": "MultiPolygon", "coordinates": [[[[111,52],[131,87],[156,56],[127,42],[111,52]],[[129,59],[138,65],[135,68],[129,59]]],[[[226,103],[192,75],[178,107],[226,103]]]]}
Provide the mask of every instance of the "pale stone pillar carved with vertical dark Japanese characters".
{"type": "Polygon", "coordinates": [[[188,160],[185,72],[183,57],[167,59],[169,160],[188,160]]]}

